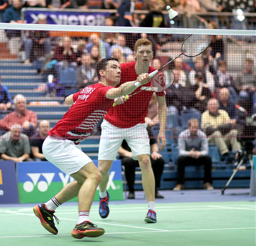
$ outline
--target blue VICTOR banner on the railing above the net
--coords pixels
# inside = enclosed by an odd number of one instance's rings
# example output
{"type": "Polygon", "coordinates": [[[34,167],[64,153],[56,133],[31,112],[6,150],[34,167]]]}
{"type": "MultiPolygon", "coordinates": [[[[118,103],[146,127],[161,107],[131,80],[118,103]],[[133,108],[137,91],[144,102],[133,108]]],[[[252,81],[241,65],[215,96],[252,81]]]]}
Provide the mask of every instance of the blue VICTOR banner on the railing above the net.
{"type": "Polygon", "coordinates": [[[47,16],[48,24],[56,25],[81,25],[81,26],[104,26],[105,17],[110,13],[96,12],[64,12],[64,11],[26,11],[27,23],[36,23],[38,14],[47,16]]]}

